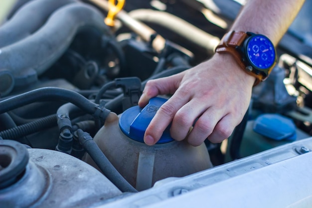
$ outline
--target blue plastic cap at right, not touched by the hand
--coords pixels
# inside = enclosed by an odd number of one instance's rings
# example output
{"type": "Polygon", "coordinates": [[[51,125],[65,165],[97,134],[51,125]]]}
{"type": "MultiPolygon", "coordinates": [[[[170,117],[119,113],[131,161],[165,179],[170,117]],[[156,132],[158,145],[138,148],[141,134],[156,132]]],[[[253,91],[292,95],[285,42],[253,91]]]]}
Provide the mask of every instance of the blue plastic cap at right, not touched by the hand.
{"type": "Polygon", "coordinates": [[[254,131],[265,137],[280,141],[295,141],[296,126],[292,119],[280,114],[263,114],[254,122],[254,131]]]}

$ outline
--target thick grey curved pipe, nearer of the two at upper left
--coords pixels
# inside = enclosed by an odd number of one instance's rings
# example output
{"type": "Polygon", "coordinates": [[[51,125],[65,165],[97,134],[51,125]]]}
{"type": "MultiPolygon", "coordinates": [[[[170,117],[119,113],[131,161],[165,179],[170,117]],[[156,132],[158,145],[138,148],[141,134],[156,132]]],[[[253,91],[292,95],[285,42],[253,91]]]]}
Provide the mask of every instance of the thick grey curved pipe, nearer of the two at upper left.
{"type": "Polygon", "coordinates": [[[93,27],[108,34],[109,28],[103,19],[96,8],[84,3],[72,3],[56,10],[31,36],[1,48],[1,95],[8,94],[14,82],[16,86],[23,86],[36,81],[37,76],[64,53],[79,30],[93,27]]]}

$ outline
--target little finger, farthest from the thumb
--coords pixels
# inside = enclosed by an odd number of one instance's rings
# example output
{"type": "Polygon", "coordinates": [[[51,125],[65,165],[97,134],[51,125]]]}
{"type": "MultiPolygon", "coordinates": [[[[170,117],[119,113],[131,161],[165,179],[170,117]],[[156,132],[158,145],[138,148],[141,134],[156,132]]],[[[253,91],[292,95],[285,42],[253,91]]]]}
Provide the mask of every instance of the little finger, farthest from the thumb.
{"type": "Polygon", "coordinates": [[[234,128],[236,127],[236,119],[232,114],[224,116],[215,126],[213,132],[208,136],[208,140],[212,143],[220,143],[224,139],[231,136],[234,128]]]}

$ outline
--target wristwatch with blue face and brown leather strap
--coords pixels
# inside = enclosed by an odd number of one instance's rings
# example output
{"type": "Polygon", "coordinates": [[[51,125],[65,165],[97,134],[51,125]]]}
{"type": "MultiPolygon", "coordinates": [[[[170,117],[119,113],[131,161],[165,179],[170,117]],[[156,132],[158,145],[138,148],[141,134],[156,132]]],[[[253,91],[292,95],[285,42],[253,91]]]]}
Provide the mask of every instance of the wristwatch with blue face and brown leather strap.
{"type": "Polygon", "coordinates": [[[227,32],[215,52],[232,54],[245,72],[256,77],[254,86],[269,76],[276,63],[276,51],[271,40],[252,32],[227,32]]]}

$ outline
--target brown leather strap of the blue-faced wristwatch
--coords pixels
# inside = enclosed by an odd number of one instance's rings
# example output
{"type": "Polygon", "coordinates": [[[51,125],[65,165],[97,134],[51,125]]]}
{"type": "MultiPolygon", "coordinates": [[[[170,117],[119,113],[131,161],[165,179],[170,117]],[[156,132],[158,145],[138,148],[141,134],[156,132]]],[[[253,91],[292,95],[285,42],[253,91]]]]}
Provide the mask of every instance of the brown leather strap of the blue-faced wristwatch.
{"type": "Polygon", "coordinates": [[[265,79],[264,75],[261,73],[256,74],[255,72],[246,69],[246,65],[242,60],[242,54],[236,49],[237,46],[240,46],[244,42],[247,36],[246,32],[236,32],[234,30],[229,31],[222,37],[219,45],[215,49],[215,52],[232,54],[236,62],[246,73],[256,77],[256,81],[254,83],[254,86],[256,86],[265,79]]]}

